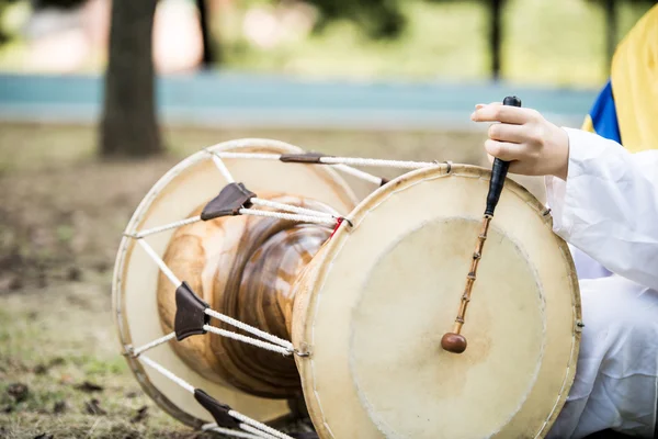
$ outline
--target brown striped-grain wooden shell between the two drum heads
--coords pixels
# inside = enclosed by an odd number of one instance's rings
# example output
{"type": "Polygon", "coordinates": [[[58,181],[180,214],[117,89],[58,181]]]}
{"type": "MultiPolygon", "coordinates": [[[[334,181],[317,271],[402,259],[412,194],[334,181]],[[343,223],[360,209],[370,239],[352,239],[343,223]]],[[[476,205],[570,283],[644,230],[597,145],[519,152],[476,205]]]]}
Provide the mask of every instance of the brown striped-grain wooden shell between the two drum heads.
{"type": "MultiPolygon", "coordinates": [[[[334,213],[303,196],[261,193],[259,198],[334,213]]],[[[190,216],[198,214],[201,209],[190,216]]],[[[251,215],[220,217],[178,228],[162,259],[213,309],[290,340],[293,285],[331,232],[324,224],[251,215]]],[[[174,330],[175,286],[164,274],[158,282],[158,309],[164,333],[174,330]]],[[[234,330],[228,325],[224,328],[234,330]]],[[[212,334],[172,346],[188,365],[214,382],[269,398],[302,396],[293,357],[212,334]]]]}

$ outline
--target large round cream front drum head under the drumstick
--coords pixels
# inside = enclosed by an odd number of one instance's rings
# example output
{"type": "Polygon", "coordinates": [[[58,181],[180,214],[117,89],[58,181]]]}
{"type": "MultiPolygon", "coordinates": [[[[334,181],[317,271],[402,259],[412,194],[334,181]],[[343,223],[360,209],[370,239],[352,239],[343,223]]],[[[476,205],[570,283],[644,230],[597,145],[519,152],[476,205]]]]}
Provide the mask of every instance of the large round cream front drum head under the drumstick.
{"type": "Polygon", "coordinates": [[[489,171],[407,173],[353,212],[302,280],[294,328],[304,393],[322,438],[543,437],[576,372],[580,299],[565,241],[508,180],[462,334],[452,331],[480,229],[489,171]]]}

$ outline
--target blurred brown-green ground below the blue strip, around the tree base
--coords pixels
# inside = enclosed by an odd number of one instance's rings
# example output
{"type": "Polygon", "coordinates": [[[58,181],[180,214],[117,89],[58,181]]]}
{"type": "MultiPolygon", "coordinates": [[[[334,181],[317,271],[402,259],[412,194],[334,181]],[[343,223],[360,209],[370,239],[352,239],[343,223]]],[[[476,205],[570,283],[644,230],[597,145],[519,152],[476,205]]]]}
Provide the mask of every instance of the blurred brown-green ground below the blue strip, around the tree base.
{"type": "Polygon", "coordinates": [[[168,154],[140,161],[97,159],[95,136],[93,126],[0,124],[2,438],[202,437],[140,391],[118,354],[111,307],[121,233],[181,158],[269,137],[334,155],[484,162],[480,132],[170,128],[168,154]]]}

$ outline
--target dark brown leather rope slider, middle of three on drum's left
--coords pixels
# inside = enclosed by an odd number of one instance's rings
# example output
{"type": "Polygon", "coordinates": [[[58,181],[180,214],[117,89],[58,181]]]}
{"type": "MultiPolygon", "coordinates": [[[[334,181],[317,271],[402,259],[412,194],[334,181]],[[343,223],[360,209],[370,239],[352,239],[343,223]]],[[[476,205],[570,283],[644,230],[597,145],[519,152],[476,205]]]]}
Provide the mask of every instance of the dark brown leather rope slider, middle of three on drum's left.
{"type": "Polygon", "coordinates": [[[211,316],[205,313],[208,307],[207,303],[194,294],[188,282],[183,281],[175,289],[173,330],[178,341],[206,333],[203,327],[211,323],[211,316]]]}

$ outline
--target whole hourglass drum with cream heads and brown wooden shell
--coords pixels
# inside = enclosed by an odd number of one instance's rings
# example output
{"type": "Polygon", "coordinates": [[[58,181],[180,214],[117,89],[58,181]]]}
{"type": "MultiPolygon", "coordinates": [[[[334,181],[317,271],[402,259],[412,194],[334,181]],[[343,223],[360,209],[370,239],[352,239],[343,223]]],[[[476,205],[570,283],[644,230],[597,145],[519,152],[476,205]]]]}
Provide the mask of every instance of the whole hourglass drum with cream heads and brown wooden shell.
{"type": "MultiPolygon", "coordinates": [[[[209,151],[300,153],[259,139],[209,151]]],[[[194,395],[129,354],[174,330],[177,315],[175,285],[134,238],[198,215],[227,183],[208,154],[173,168],[143,201],[114,281],[131,368],[162,408],[195,427],[213,417],[194,395]]],[[[338,226],[240,215],[141,239],[213,309],[292,340],[295,354],[204,334],[169,340],[149,350],[151,360],[262,421],[285,415],[286,399],[303,396],[320,438],[548,432],[576,372],[580,299],[568,247],[530,192],[506,183],[462,330],[468,348],[457,354],[443,350],[441,338],[469,272],[488,170],[429,164],[359,203],[317,161],[224,162],[259,199],[334,215],[338,226]]]]}

